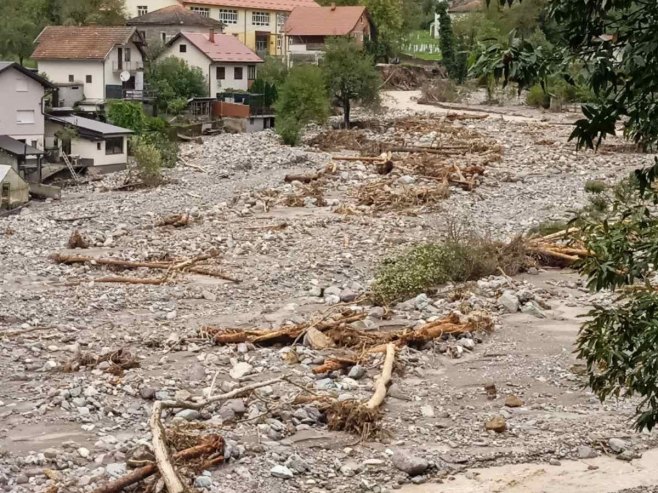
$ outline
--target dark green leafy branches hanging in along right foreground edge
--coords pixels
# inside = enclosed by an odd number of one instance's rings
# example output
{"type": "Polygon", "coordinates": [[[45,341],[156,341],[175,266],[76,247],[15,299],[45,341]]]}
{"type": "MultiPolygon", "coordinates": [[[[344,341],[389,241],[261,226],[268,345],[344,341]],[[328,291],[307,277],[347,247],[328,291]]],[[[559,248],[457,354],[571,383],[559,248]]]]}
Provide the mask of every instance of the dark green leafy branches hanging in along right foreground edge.
{"type": "MultiPolygon", "coordinates": [[[[511,5],[514,0],[500,0],[511,5]]],[[[623,122],[624,135],[644,148],[658,143],[658,2],[552,0],[549,14],[562,28],[572,56],[588,68],[598,101],[583,106],[571,138],[597,147],[623,122]]],[[[593,290],[611,290],[581,328],[578,355],[601,399],[639,395],[638,428],[658,423],[658,162],[635,172],[625,195],[603,214],[580,218],[591,252],[580,267],[593,290]]]]}

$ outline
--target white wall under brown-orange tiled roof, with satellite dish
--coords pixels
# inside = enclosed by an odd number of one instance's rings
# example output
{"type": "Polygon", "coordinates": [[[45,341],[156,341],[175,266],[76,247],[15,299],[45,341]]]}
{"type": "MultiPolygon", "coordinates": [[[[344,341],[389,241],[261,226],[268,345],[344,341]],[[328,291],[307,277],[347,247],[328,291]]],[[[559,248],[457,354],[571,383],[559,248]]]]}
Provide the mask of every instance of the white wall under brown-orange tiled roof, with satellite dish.
{"type": "Polygon", "coordinates": [[[105,98],[105,70],[100,60],[40,60],[37,68],[55,84],[68,84],[73,75],[73,81],[84,86],[85,99],[105,98]],[[87,75],[91,75],[91,84],[86,82],[87,75]]]}

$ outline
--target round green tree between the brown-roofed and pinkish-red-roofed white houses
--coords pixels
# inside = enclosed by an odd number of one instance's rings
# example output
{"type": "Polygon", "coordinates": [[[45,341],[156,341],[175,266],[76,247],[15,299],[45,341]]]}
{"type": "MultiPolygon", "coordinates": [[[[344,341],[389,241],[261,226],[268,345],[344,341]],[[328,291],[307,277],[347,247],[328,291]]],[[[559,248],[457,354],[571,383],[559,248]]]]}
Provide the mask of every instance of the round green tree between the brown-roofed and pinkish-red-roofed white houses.
{"type": "Polygon", "coordinates": [[[208,96],[208,84],[201,69],[173,56],[153,63],[147,80],[156,93],[158,108],[163,111],[176,113],[181,99],[208,96]]]}

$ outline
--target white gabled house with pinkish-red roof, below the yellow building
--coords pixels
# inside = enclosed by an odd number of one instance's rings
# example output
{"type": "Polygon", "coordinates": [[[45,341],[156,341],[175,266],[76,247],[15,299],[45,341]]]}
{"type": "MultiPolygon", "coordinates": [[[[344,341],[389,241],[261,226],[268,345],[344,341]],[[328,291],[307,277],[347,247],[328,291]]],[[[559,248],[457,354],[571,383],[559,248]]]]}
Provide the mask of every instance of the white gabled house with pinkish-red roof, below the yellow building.
{"type": "Polygon", "coordinates": [[[174,56],[198,67],[206,75],[208,94],[246,91],[256,79],[256,65],[263,60],[240,40],[228,34],[182,32],[167,43],[161,57],[174,56]]]}

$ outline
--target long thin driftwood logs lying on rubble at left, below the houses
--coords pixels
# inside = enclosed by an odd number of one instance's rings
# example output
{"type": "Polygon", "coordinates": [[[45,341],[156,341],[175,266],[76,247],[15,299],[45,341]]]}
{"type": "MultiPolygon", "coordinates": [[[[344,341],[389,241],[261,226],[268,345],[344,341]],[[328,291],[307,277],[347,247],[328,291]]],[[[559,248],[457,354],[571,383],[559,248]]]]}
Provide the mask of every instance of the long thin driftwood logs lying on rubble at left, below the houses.
{"type": "Polygon", "coordinates": [[[231,277],[223,272],[208,265],[207,261],[216,259],[219,256],[217,252],[211,252],[205,255],[199,255],[194,258],[174,259],[166,261],[136,261],[124,260],[120,258],[95,258],[83,255],[68,255],[64,253],[54,253],[50,258],[58,264],[86,264],[94,267],[107,267],[111,270],[135,270],[149,269],[165,271],[161,277],[124,277],[124,276],[106,276],[94,279],[95,282],[103,283],[127,283],[127,284],[152,284],[159,285],[170,281],[175,275],[181,273],[200,274],[210,277],[218,277],[231,282],[240,282],[238,279],[231,277]]]}

